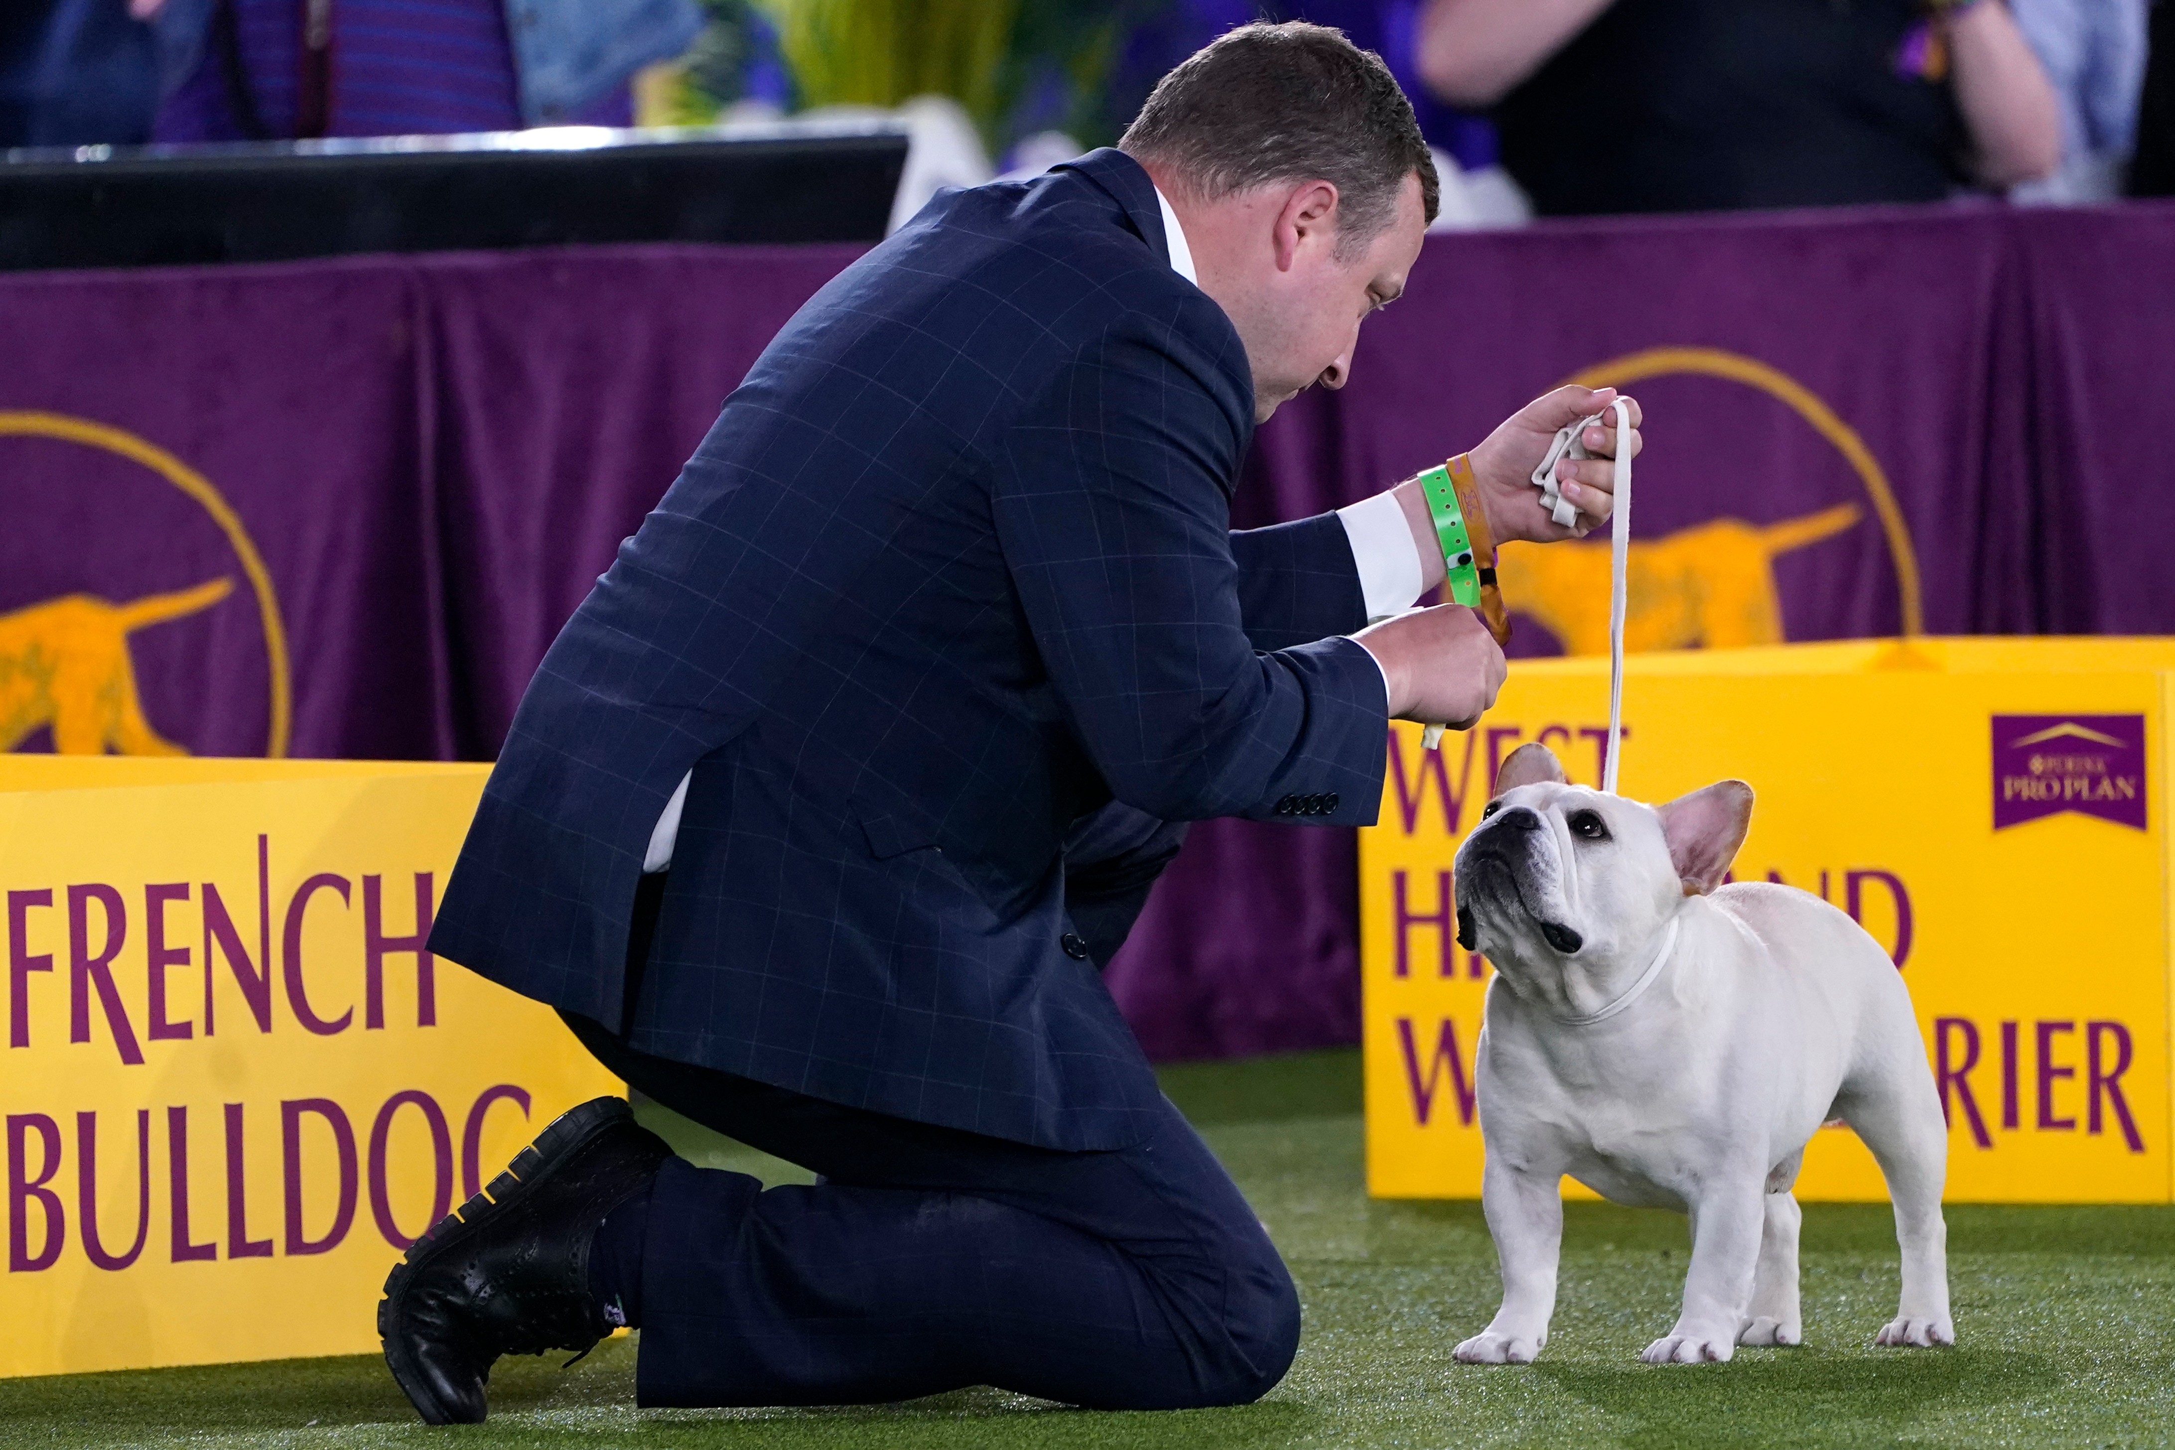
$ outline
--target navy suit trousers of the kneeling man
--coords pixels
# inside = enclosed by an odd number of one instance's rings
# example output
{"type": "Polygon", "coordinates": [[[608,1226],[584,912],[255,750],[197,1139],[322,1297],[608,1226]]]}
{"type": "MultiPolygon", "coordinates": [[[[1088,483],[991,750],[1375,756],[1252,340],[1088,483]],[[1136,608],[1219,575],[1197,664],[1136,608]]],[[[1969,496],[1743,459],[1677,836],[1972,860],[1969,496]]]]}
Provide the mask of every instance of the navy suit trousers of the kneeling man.
{"type": "MultiPolygon", "coordinates": [[[[1096,961],[1124,941],[1181,835],[1124,807],[1074,828],[1068,900],[1096,961]]],[[[631,967],[659,896],[637,900],[631,967]]],[[[1298,1350],[1277,1248],[1168,1098],[1131,1148],[1066,1152],[566,1022],[635,1091],[822,1178],[766,1189],[663,1165],[639,1235],[642,1404],[870,1404],[966,1385],[1094,1409],[1244,1404],[1298,1350]]]]}

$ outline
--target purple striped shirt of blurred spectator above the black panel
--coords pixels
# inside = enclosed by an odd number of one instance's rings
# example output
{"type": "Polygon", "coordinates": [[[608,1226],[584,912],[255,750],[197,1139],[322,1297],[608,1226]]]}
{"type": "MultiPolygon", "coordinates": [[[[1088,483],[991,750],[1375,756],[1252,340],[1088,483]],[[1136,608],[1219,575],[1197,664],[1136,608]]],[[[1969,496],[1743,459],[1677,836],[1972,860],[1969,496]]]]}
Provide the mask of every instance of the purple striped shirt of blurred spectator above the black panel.
{"type": "MultiPolygon", "coordinates": [[[[233,0],[241,65],[257,117],[294,137],[302,0],[233,0]]],[[[444,135],[520,130],[520,93],[500,0],[335,0],[326,135],[444,135]]],[[[620,85],[568,115],[574,126],[633,124],[620,85]]],[[[154,141],[248,141],[228,98],[220,46],[159,109],[154,141]]]]}

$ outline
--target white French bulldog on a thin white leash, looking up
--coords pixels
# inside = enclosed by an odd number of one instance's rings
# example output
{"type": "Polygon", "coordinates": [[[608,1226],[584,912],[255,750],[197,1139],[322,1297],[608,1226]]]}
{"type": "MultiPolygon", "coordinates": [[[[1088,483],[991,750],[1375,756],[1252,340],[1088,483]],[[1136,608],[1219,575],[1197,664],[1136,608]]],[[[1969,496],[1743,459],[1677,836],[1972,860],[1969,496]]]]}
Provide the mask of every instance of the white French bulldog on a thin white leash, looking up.
{"type": "Polygon", "coordinates": [[[1457,850],[1457,939],[1496,967],[1477,1080],[1503,1307],[1457,1359],[1529,1363],[1549,1341],[1564,1174],[1692,1217],[1683,1313],[1640,1359],[1799,1343],[1790,1185],[1829,1117],[1894,1200],[1903,1302],[1877,1343],[1955,1343],[1949,1133],[1910,993],[1816,896],[1720,885],[1751,809],[1742,780],[1655,809],[1566,785],[1544,746],[1503,763],[1457,850]]]}

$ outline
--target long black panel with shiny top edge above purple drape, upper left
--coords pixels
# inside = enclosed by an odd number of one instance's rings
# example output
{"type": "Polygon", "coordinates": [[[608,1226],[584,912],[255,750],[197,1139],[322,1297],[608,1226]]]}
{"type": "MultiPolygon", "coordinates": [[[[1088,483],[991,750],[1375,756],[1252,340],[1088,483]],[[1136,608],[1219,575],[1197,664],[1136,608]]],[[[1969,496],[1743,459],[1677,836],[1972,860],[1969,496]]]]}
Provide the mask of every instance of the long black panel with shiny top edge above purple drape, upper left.
{"type": "Polygon", "coordinates": [[[605,241],[881,241],[887,124],[17,150],[0,270],[605,241]]]}

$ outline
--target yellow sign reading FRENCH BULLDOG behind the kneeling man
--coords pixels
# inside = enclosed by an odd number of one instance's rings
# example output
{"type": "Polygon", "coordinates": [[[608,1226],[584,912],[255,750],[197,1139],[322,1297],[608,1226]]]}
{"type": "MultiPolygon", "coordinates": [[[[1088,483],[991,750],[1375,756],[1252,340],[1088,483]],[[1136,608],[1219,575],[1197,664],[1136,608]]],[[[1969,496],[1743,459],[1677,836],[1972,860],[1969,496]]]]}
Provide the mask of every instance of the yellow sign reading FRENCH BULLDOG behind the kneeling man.
{"type": "Polygon", "coordinates": [[[376,1350],[400,1250],[620,1089],[422,950],[485,774],[0,757],[0,1376],[376,1350]]]}

